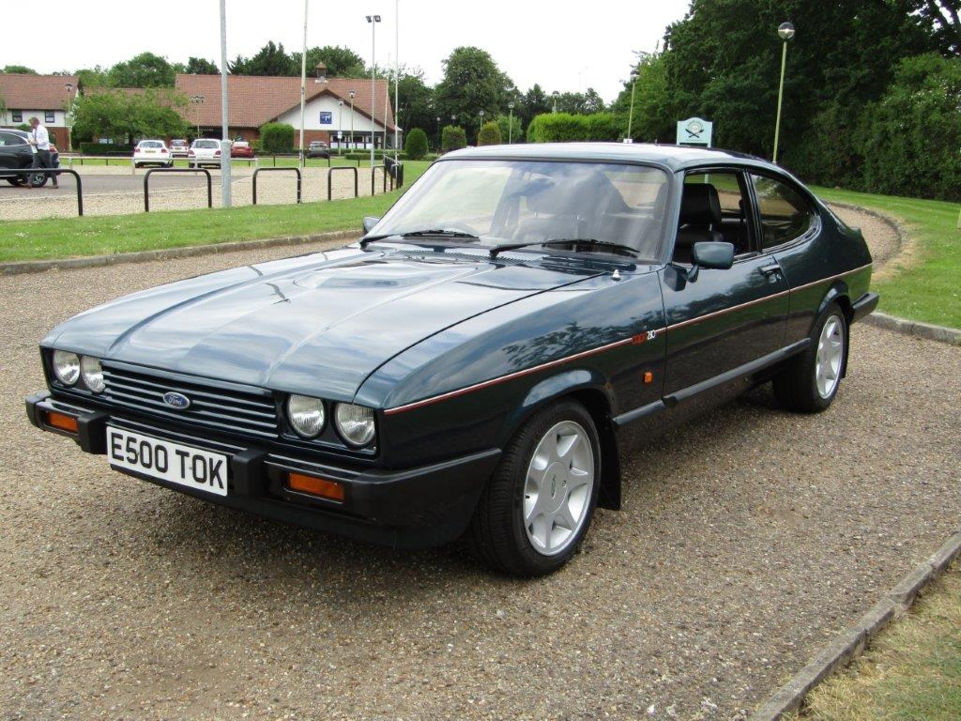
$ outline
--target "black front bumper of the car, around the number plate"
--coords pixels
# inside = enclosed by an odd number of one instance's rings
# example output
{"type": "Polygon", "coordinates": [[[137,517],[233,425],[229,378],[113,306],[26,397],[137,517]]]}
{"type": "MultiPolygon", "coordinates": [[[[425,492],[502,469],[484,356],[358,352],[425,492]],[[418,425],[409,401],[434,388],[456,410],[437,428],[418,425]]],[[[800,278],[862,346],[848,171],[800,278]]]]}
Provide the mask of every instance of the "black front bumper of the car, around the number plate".
{"type": "Polygon", "coordinates": [[[107,425],[150,435],[229,458],[228,493],[214,496],[116,466],[114,470],[238,510],[307,528],[348,535],[394,548],[427,548],[454,540],[470,522],[480,491],[501,451],[493,448],[453,460],[388,470],[331,464],[303,455],[215,440],[198,432],[160,425],[156,420],[83,408],[43,391],[26,399],[27,417],[37,428],[72,437],[86,453],[107,453],[107,425]],[[76,433],[47,422],[55,412],[77,421],[76,433]],[[293,491],[288,473],[303,473],[344,486],[336,502],[293,491]]]}

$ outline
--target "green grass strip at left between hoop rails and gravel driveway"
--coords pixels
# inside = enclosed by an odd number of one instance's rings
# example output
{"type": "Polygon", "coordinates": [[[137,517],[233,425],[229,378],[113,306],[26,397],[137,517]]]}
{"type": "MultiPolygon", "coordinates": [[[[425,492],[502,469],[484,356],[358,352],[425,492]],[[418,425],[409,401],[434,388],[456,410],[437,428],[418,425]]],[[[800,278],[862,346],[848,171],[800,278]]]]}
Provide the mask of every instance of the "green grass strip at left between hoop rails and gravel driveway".
{"type": "MultiPolygon", "coordinates": [[[[407,162],[406,186],[429,164],[407,162]]],[[[332,203],[7,221],[0,234],[0,261],[111,255],[354,229],[360,236],[361,218],[382,215],[400,195],[394,190],[332,203]]]]}

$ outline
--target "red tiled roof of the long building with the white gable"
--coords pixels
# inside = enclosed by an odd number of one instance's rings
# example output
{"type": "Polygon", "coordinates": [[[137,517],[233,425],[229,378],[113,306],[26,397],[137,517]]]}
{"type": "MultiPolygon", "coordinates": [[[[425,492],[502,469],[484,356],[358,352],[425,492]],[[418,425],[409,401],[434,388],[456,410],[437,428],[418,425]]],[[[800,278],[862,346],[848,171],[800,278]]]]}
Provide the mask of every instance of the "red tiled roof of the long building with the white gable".
{"type": "MultiPolygon", "coordinates": [[[[378,78],[374,86],[374,119],[383,122],[387,81],[378,78]]],[[[179,74],[175,86],[187,97],[203,95],[203,103],[191,103],[186,111],[191,125],[220,125],[220,76],[179,74]]],[[[307,79],[307,102],[325,92],[350,102],[355,90],[354,110],[370,117],[370,78],[328,78],[326,83],[307,79]]],[[[300,106],[300,78],[263,75],[231,75],[227,78],[230,125],[234,128],[259,128],[284,112],[300,106]]],[[[387,107],[387,129],[394,128],[393,109],[387,107]]]]}

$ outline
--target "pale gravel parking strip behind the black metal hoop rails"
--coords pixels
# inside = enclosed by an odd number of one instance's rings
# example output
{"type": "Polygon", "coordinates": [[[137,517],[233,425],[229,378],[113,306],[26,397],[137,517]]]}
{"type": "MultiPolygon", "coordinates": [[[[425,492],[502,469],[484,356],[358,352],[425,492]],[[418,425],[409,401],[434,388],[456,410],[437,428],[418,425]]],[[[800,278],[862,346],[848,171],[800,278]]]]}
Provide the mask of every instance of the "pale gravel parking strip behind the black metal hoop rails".
{"type": "MultiPolygon", "coordinates": [[[[150,168],[132,172],[127,166],[75,165],[84,188],[85,215],[121,215],[143,212],[143,176],[150,168]]],[[[213,207],[220,207],[220,171],[209,168],[212,176],[213,207]]],[[[302,169],[303,201],[327,200],[327,167],[302,169]]],[[[254,168],[236,166],[231,170],[232,203],[247,206],[253,202],[254,168]]],[[[383,191],[383,170],[375,170],[375,193],[383,191]]],[[[359,168],[359,195],[371,194],[370,168],[359,168]]],[[[332,180],[333,200],[354,197],[354,173],[337,168],[332,180]]],[[[387,189],[390,189],[388,180],[387,189]]],[[[258,204],[294,203],[297,199],[297,180],[290,168],[287,172],[260,173],[257,179],[258,204]]],[[[203,173],[171,173],[150,176],[151,211],[181,211],[207,208],[207,179],[203,173]]],[[[76,181],[68,174],[61,176],[61,187],[50,184],[39,188],[13,187],[0,181],[0,220],[30,220],[44,217],[72,217],[77,214],[76,181]]]]}

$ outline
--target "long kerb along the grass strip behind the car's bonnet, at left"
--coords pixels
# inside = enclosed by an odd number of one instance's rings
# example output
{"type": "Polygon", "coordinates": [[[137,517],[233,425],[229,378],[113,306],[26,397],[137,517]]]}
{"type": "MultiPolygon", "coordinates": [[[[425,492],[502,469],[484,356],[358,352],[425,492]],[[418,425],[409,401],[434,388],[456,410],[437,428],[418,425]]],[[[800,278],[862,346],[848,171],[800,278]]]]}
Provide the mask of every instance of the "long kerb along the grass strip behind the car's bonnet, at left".
{"type": "Polygon", "coordinates": [[[93,268],[104,265],[116,265],[125,262],[163,261],[169,258],[193,258],[216,253],[234,253],[244,250],[259,250],[282,245],[304,245],[318,242],[343,242],[354,240],[363,235],[360,231],[333,231],[315,236],[284,236],[261,240],[237,240],[213,245],[190,245],[184,248],[164,248],[162,250],[145,250],[138,253],[116,253],[110,256],[88,256],[86,258],[66,258],[54,261],[19,261],[0,263],[0,275],[18,275],[20,273],[43,273],[47,270],[73,270],[76,268],[93,268]]]}

